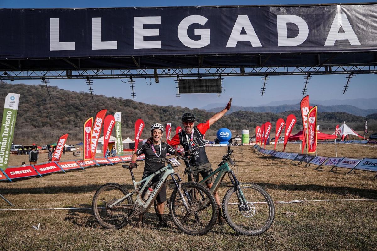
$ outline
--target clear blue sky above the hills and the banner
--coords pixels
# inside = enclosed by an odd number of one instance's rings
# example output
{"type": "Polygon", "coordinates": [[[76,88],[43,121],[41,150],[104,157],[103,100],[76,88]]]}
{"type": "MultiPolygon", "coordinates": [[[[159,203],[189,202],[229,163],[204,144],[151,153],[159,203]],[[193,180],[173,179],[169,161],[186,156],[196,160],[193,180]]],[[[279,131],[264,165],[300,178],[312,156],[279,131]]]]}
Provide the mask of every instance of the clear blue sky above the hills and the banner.
{"type": "MultiPolygon", "coordinates": [[[[335,1],[11,1],[0,0],[0,8],[94,8],[94,7],[133,7],[133,6],[195,6],[195,5],[285,5],[285,4],[316,4],[334,3],[335,1]]],[[[355,1],[336,1],[337,3],[352,3],[355,1]]],[[[364,1],[365,2],[365,1],[364,1]]],[[[368,2],[368,1],[366,1],[368,2]]],[[[271,76],[264,96],[260,96],[261,77],[225,77],[223,87],[225,92],[218,98],[216,94],[186,94],[180,98],[175,96],[175,82],[172,78],[160,78],[160,83],[148,86],[149,79],[136,79],[136,101],[158,104],[179,105],[183,107],[201,108],[211,103],[227,103],[233,97],[233,104],[240,106],[256,106],[276,100],[301,99],[303,76],[271,76]],[[146,83],[147,82],[147,83],[146,83]]],[[[377,93],[377,75],[356,75],[346,94],[342,89],[346,81],[345,75],[312,76],[307,94],[311,99],[350,99],[374,98],[377,93]]],[[[40,81],[14,81],[12,83],[41,84],[40,81]]],[[[51,80],[51,86],[62,89],[87,92],[84,80],[51,80]]],[[[95,94],[130,98],[129,85],[119,79],[94,80],[95,94]]]]}

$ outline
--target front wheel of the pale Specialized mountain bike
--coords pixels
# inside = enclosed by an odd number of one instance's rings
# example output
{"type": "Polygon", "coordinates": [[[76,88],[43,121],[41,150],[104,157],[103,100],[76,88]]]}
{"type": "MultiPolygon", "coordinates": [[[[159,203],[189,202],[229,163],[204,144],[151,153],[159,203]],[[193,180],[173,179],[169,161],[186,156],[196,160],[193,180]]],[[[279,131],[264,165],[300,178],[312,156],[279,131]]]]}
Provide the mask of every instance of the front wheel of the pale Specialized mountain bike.
{"type": "Polygon", "coordinates": [[[213,194],[204,185],[184,182],[170,196],[170,214],[175,225],[184,233],[203,235],[216,223],[218,205],[213,194]],[[208,201],[210,206],[207,205],[208,201]]]}

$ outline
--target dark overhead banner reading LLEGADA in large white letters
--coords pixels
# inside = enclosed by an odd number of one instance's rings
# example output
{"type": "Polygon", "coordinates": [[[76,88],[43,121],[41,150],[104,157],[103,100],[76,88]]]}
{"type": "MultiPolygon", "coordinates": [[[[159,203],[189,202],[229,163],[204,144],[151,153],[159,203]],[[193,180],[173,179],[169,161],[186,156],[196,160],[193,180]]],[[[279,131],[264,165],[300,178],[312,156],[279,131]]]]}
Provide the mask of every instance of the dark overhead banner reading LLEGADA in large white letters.
{"type": "Polygon", "coordinates": [[[0,9],[0,59],[376,51],[376,9],[375,3],[0,9]]]}

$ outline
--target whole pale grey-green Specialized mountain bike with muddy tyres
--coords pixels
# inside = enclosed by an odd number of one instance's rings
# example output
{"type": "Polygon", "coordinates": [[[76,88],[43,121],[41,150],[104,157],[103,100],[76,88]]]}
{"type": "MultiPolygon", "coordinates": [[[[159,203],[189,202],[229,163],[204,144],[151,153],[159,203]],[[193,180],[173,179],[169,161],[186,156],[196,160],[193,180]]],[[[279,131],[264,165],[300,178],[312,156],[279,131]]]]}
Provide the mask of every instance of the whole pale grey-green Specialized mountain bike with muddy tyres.
{"type": "Polygon", "coordinates": [[[218,217],[218,207],[213,194],[207,187],[197,182],[181,182],[179,174],[174,171],[174,168],[181,164],[177,159],[154,158],[153,160],[168,165],[139,182],[135,181],[132,169],[128,165],[122,165],[123,168],[130,170],[134,191],[129,192],[123,185],[117,183],[104,184],[97,190],[92,203],[95,219],[107,229],[124,227],[133,217],[149,210],[162,185],[170,176],[175,185],[169,203],[173,222],[186,234],[207,233],[218,217]],[[161,179],[153,187],[151,181],[158,175],[161,179]],[[146,200],[143,200],[150,187],[153,187],[153,191],[146,200]],[[136,197],[135,202],[133,197],[136,197]],[[200,221],[198,221],[199,216],[200,221]]]}

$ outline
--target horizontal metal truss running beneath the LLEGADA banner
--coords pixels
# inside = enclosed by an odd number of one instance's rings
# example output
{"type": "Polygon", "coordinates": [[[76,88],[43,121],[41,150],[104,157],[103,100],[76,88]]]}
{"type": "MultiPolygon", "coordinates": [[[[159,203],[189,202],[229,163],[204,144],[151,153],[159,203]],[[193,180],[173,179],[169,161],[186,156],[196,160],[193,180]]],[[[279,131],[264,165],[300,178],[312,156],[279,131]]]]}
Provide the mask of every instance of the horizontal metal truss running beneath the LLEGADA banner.
{"type": "Polygon", "coordinates": [[[0,71],[0,80],[100,79],[100,78],[181,78],[279,75],[329,75],[376,73],[377,66],[307,66],[307,67],[224,67],[185,69],[102,69],[102,70],[28,70],[0,71]]]}

